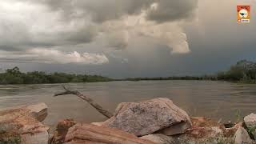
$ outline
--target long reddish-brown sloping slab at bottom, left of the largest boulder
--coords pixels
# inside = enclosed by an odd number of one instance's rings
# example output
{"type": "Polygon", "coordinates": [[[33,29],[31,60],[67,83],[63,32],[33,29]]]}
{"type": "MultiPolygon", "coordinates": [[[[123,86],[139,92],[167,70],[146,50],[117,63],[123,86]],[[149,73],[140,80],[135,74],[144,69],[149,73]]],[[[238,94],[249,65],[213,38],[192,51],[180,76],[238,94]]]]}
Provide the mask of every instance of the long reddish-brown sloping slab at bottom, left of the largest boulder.
{"type": "Polygon", "coordinates": [[[115,143],[115,144],[153,144],[154,142],[137,138],[134,134],[105,126],[78,123],[66,134],[67,144],[78,143],[115,143]]]}

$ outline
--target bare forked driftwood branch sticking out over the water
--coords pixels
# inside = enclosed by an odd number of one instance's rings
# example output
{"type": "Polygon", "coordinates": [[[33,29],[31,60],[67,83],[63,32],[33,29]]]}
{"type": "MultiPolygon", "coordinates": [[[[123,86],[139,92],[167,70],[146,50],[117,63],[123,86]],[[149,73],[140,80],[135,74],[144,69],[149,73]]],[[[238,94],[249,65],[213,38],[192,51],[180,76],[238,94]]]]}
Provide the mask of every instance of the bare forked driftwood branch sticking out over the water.
{"type": "Polygon", "coordinates": [[[65,86],[63,86],[63,89],[65,91],[58,94],[54,94],[54,97],[66,94],[73,94],[78,96],[78,98],[82,98],[86,102],[90,103],[91,106],[93,106],[96,110],[98,110],[99,113],[105,115],[107,118],[111,118],[113,116],[113,114],[110,113],[108,110],[104,110],[103,107],[98,105],[98,103],[94,102],[93,99],[86,97],[85,95],[81,94],[78,90],[69,90],[65,86]]]}

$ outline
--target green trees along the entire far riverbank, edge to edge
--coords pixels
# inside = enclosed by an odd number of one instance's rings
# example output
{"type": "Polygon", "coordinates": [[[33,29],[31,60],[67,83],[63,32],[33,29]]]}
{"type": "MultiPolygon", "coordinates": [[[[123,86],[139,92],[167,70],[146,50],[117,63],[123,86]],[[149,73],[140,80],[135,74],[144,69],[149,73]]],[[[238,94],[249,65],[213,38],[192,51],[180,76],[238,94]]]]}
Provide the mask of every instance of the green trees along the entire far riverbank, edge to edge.
{"type": "Polygon", "coordinates": [[[40,83],[68,83],[68,82],[109,82],[109,81],[147,81],[147,80],[210,80],[256,83],[256,63],[246,60],[237,62],[230,66],[229,70],[218,72],[217,74],[204,76],[180,76],[167,78],[123,78],[114,79],[100,75],[87,74],[66,74],[45,72],[22,73],[18,67],[7,69],[0,74],[0,84],[40,84],[40,83]]]}

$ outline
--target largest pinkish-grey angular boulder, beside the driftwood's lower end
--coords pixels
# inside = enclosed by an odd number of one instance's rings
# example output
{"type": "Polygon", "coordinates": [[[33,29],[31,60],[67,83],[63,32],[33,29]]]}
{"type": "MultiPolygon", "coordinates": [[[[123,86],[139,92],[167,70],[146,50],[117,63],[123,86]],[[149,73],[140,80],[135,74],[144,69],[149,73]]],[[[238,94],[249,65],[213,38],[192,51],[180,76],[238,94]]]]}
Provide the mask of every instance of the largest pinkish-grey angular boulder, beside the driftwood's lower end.
{"type": "Polygon", "coordinates": [[[165,134],[180,134],[191,126],[191,122],[188,114],[170,99],[155,98],[119,104],[114,117],[103,122],[102,126],[143,136],[165,128],[168,128],[163,130],[165,134]],[[182,126],[177,126],[178,124],[182,126]]]}

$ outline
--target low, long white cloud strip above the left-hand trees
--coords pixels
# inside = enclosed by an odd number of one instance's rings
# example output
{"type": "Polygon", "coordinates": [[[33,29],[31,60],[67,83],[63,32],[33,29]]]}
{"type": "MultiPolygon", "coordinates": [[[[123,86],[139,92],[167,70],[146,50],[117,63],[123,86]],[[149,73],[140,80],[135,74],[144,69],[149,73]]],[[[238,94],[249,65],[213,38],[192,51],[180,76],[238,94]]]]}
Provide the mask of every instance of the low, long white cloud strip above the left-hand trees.
{"type": "Polygon", "coordinates": [[[108,63],[105,54],[79,54],[77,51],[64,53],[60,50],[31,49],[25,52],[0,51],[0,61],[5,62],[39,62],[39,63],[78,63],[84,65],[101,65],[108,63]]]}

